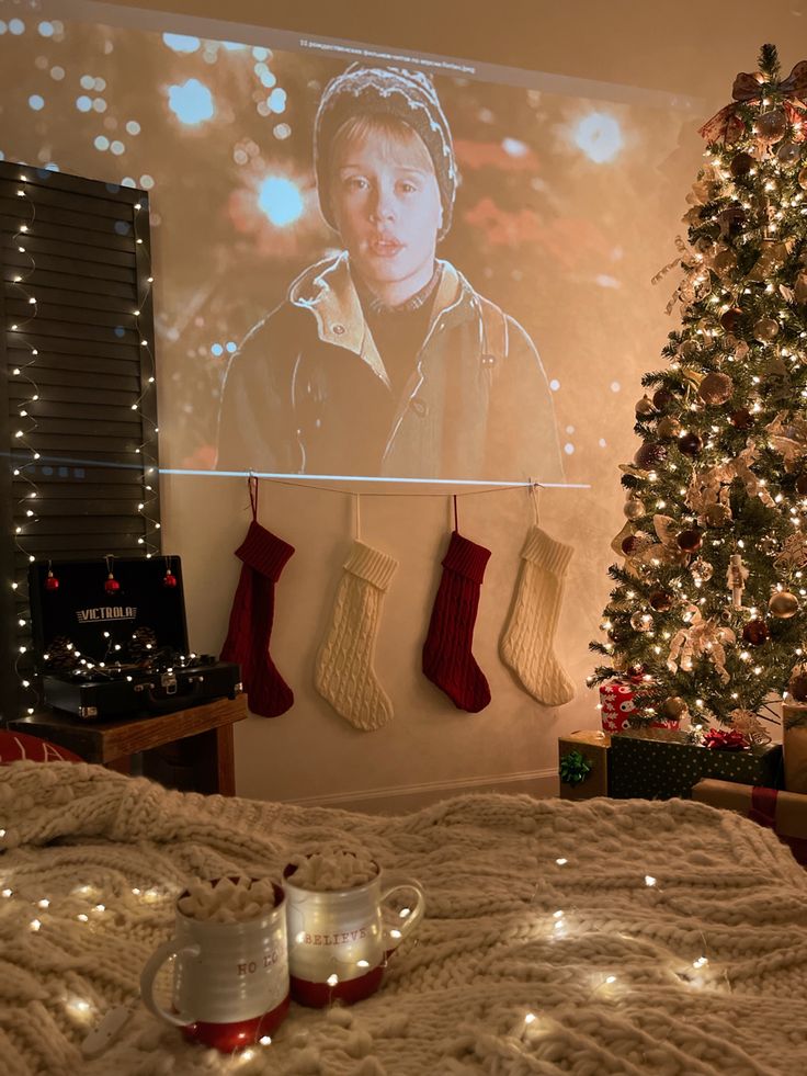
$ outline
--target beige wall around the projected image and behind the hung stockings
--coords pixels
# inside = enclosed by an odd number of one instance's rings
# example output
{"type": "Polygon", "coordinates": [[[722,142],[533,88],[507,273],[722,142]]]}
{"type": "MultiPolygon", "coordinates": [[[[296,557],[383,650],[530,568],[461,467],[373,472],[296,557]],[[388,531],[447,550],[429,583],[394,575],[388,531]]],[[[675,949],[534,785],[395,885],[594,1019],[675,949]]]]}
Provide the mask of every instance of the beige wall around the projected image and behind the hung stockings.
{"type": "MultiPolygon", "coordinates": [[[[140,7],[147,7],[141,4],[140,7]]],[[[157,4],[155,4],[157,7],[157,4]]],[[[160,7],[220,18],[216,0],[164,0],[160,7]]],[[[232,21],[334,35],[451,56],[511,64],[561,75],[603,79],[701,98],[704,118],[729,97],[738,70],[753,69],[759,45],[777,42],[783,63],[802,59],[807,14],[791,2],[556,3],[545,0],[480,3],[370,2],[305,7],[230,0],[232,21]]],[[[674,318],[663,307],[674,284],[650,285],[652,273],[674,257],[689,183],[703,146],[690,123],[636,184],[636,217],[621,304],[621,338],[598,336],[598,312],[558,310],[564,319],[589,320],[589,347],[578,355],[575,408],[578,423],[607,415],[607,449],[569,463],[569,478],[588,490],[546,491],[542,523],[573,544],[557,652],[578,684],[577,699],[558,710],[520,690],[498,658],[498,639],[518,571],[519,550],[532,521],[524,491],[466,497],[461,529],[493,553],[482,588],[475,655],[488,675],[492,702],[478,715],[456,711],[420,672],[420,648],[450,532],[441,496],[365,497],[363,540],[399,562],[386,599],[376,670],[394,701],[385,728],[360,733],[333,713],[312,688],[312,665],[333,591],[352,536],[348,495],[308,486],[264,484],[261,522],[297,553],[277,588],[272,654],[296,693],[294,709],[236,728],[237,788],[257,798],[319,800],[404,809],[450,792],[498,786],[548,792],[556,788],[557,736],[598,721],[596,699],[584,688],[592,666],[588,642],[596,635],[607,597],[609,542],[622,526],[617,464],[635,451],[633,408],[644,371],[660,365],[659,351],[674,318]],[[623,392],[609,385],[618,381],[623,392]]],[[[663,133],[662,133],[663,141],[663,133]]],[[[160,251],[157,249],[158,271],[160,251]]],[[[158,276],[159,279],[159,276],[158,276]]],[[[159,305],[159,292],[157,294],[159,305]]],[[[170,381],[161,377],[160,410],[171,409],[170,381]]],[[[171,430],[163,420],[163,463],[171,461],[171,430]]],[[[365,488],[366,491],[366,487],[365,488]]],[[[379,487],[377,491],[384,491],[379,487]]],[[[388,491],[388,490],[387,490],[388,491]]],[[[217,652],[224,638],[238,562],[232,550],[248,524],[245,483],[234,479],[163,478],[164,547],[181,554],[187,589],[191,641],[217,652]]]]}

